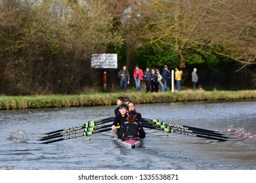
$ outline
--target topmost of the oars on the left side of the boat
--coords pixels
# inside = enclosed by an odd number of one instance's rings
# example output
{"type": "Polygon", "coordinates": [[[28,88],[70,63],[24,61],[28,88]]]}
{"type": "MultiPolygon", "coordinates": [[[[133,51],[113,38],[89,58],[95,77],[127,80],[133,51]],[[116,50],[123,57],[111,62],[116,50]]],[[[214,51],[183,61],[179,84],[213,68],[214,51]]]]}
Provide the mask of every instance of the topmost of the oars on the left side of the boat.
{"type": "MultiPolygon", "coordinates": [[[[63,133],[69,133],[69,132],[76,131],[76,130],[79,130],[79,129],[84,129],[86,127],[94,127],[96,125],[106,124],[108,122],[112,122],[113,120],[114,120],[114,118],[110,118],[108,120],[91,121],[91,122],[87,122],[86,124],[76,125],[74,127],[68,127],[66,129],[62,129],[62,130],[51,131],[51,133],[49,135],[45,136],[45,137],[52,137],[52,136],[60,135],[60,134],[63,134],[63,133]]],[[[45,133],[45,134],[48,134],[48,133],[45,133]]],[[[43,138],[45,138],[45,137],[43,137],[43,138]]]]}

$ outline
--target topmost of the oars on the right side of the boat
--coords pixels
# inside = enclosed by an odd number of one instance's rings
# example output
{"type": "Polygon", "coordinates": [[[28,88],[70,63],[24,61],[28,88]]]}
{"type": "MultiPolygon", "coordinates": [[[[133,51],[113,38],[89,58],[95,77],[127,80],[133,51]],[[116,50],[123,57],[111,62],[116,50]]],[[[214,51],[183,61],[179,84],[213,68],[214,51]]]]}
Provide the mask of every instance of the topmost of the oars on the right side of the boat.
{"type": "Polygon", "coordinates": [[[166,124],[169,127],[178,127],[178,128],[182,128],[182,129],[191,129],[194,131],[203,131],[205,133],[213,133],[215,135],[224,135],[223,133],[217,133],[216,131],[212,131],[209,129],[202,129],[202,128],[198,128],[198,127],[190,127],[187,125],[180,125],[180,124],[171,124],[171,123],[166,123],[166,122],[161,122],[160,120],[152,120],[152,119],[147,119],[147,118],[142,118],[142,122],[149,122],[149,123],[153,123],[153,124],[166,124]]]}

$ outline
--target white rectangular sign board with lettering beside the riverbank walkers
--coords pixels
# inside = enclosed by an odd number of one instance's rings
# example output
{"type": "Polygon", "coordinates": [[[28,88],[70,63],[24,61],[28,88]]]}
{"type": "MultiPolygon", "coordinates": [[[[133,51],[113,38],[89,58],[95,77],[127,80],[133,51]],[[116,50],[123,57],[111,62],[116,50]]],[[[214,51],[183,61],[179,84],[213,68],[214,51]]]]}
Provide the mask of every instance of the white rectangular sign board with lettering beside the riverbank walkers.
{"type": "Polygon", "coordinates": [[[117,54],[92,54],[91,68],[117,69],[117,54]]]}

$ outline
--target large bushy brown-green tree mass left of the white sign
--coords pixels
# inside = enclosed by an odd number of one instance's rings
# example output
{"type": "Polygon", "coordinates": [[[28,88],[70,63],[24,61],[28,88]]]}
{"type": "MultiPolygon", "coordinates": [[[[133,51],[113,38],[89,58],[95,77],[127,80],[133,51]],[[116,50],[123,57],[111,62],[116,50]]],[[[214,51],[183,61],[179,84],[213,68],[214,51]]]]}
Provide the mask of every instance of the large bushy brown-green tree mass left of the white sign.
{"type": "Polygon", "coordinates": [[[97,86],[91,54],[123,42],[104,1],[1,1],[0,7],[6,22],[0,27],[1,93],[74,93],[97,86]]]}

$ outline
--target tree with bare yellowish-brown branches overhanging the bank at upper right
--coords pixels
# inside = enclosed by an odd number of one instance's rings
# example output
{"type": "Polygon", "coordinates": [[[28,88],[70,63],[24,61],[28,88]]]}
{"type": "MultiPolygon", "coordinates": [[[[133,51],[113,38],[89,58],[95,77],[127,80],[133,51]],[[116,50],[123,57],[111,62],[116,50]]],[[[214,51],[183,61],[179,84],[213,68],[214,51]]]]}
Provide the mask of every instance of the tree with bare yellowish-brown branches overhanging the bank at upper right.
{"type": "MultiPolygon", "coordinates": [[[[183,63],[217,55],[242,63],[256,61],[256,1],[150,1],[142,7],[142,38],[154,48],[171,46],[183,63]],[[191,57],[190,50],[198,52],[191,57]]],[[[241,68],[242,68],[241,67],[241,68]]]]}

